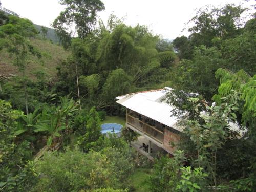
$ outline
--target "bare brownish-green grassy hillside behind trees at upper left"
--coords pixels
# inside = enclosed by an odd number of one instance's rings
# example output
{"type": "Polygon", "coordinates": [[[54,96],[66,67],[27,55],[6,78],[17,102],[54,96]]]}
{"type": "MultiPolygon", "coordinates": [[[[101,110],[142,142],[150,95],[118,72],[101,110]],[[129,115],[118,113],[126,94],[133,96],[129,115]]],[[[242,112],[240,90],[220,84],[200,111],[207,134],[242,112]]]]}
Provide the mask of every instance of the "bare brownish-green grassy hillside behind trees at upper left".
{"type": "MultiPolygon", "coordinates": [[[[41,52],[42,58],[30,57],[27,74],[33,78],[36,72],[44,71],[50,77],[55,76],[58,63],[70,53],[49,40],[31,39],[30,42],[41,52]]],[[[13,57],[6,50],[0,51],[0,74],[19,74],[13,66],[13,57]]]]}

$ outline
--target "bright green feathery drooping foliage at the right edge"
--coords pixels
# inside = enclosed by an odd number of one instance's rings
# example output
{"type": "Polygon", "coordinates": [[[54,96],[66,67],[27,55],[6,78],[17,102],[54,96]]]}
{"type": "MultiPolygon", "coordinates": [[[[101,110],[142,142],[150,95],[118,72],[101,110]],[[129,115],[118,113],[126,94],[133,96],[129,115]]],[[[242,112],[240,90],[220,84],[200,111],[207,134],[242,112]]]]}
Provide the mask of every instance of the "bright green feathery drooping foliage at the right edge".
{"type": "Polygon", "coordinates": [[[237,73],[226,69],[218,69],[216,77],[220,79],[218,94],[214,100],[219,104],[222,100],[237,105],[230,106],[230,117],[233,120],[240,119],[242,116],[243,125],[249,128],[251,136],[255,135],[255,117],[256,117],[256,75],[250,77],[244,70],[237,73]],[[229,96],[227,96],[229,94],[229,96]],[[230,97],[233,95],[233,97],[230,97]],[[234,97],[236,96],[236,97],[234,97]],[[231,112],[233,111],[233,112],[231,112]]]}

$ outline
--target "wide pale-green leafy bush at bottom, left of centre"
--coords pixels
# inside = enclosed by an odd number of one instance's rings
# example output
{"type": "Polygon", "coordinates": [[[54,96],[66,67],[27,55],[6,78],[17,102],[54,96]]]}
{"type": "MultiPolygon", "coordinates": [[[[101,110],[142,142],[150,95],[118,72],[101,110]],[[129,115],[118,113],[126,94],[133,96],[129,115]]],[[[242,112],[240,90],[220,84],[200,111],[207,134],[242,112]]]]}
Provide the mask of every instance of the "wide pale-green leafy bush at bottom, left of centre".
{"type": "Polygon", "coordinates": [[[79,191],[97,188],[126,188],[133,168],[129,156],[116,148],[87,154],[77,148],[48,152],[34,163],[39,176],[33,191],[79,191]]]}

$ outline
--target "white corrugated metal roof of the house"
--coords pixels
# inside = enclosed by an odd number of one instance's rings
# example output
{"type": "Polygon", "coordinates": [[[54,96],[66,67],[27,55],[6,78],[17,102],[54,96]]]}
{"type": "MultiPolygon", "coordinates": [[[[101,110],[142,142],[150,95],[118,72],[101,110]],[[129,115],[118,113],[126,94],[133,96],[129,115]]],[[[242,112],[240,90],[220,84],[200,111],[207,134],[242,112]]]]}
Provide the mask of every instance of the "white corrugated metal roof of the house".
{"type": "Polygon", "coordinates": [[[127,94],[116,97],[118,99],[116,102],[148,118],[182,131],[182,127],[176,125],[177,117],[173,116],[171,112],[174,106],[162,101],[170,89],[166,87],[160,90],[127,94]]]}

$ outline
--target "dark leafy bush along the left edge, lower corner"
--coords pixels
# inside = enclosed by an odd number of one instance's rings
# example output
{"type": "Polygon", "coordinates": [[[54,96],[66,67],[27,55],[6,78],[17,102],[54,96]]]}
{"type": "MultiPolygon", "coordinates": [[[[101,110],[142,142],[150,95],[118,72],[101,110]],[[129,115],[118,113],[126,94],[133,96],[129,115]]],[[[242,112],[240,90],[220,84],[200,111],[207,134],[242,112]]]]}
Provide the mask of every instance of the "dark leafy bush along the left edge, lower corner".
{"type": "Polygon", "coordinates": [[[22,117],[23,112],[0,100],[0,190],[13,191],[28,179],[22,169],[32,157],[30,142],[14,135],[22,117]]]}

